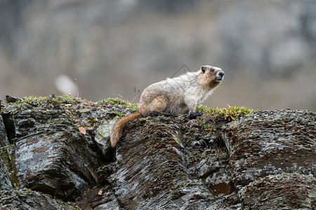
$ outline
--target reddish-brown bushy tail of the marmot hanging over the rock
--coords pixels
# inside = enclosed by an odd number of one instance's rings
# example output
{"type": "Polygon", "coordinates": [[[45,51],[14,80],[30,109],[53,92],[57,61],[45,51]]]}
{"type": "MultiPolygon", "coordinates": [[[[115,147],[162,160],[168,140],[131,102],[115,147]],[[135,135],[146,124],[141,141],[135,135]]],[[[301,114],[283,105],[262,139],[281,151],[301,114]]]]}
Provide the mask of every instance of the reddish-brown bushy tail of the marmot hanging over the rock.
{"type": "Polygon", "coordinates": [[[141,113],[132,113],[129,116],[119,119],[117,123],[115,123],[114,127],[112,128],[112,132],[110,135],[111,146],[114,148],[121,139],[121,135],[123,134],[124,126],[129,123],[129,121],[136,119],[136,118],[143,118],[141,113]]]}

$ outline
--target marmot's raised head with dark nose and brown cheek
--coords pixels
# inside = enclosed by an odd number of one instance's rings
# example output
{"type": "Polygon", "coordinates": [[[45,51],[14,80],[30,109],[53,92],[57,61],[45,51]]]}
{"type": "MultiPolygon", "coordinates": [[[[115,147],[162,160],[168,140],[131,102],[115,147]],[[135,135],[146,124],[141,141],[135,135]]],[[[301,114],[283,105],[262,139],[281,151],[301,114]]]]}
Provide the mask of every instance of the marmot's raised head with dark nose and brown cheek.
{"type": "Polygon", "coordinates": [[[199,83],[213,89],[218,86],[224,78],[224,71],[216,66],[202,66],[199,74],[199,83]]]}

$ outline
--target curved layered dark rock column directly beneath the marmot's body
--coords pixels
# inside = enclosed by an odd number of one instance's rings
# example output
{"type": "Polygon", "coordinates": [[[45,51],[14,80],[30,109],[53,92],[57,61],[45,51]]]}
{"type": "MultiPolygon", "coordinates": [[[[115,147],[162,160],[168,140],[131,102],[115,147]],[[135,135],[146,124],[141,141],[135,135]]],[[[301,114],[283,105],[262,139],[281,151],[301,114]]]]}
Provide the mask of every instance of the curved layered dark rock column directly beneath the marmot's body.
{"type": "Polygon", "coordinates": [[[199,208],[214,201],[211,191],[187,174],[180,128],[166,118],[133,120],[116,152],[110,176],[114,194],[125,209],[199,208]]]}

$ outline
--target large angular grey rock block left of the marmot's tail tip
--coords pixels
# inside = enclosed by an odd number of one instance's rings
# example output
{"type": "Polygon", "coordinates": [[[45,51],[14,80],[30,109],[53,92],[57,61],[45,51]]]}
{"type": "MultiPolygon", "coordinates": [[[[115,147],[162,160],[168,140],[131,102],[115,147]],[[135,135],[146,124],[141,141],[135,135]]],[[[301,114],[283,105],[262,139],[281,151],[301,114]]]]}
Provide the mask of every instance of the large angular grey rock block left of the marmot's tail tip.
{"type": "Polygon", "coordinates": [[[93,180],[89,169],[98,160],[79,134],[58,132],[17,141],[16,162],[22,186],[74,200],[93,180]],[[82,146],[80,146],[82,144],[82,146]]]}

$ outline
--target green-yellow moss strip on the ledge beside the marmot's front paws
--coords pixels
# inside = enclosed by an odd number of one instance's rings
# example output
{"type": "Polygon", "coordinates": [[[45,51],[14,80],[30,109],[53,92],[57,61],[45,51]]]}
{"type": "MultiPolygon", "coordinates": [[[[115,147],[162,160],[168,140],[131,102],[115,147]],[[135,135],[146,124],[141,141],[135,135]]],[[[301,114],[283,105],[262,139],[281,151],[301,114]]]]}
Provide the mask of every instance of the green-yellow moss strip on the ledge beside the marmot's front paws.
{"type": "Polygon", "coordinates": [[[244,106],[229,106],[225,108],[209,108],[207,106],[197,106],[197,111],[203,111],[206,114],[217,113],[224,116],[225,120],[236,120],[240,116],[244,116],[249,113],[255,113],[258,110],[249,109],[244,106]]]}

